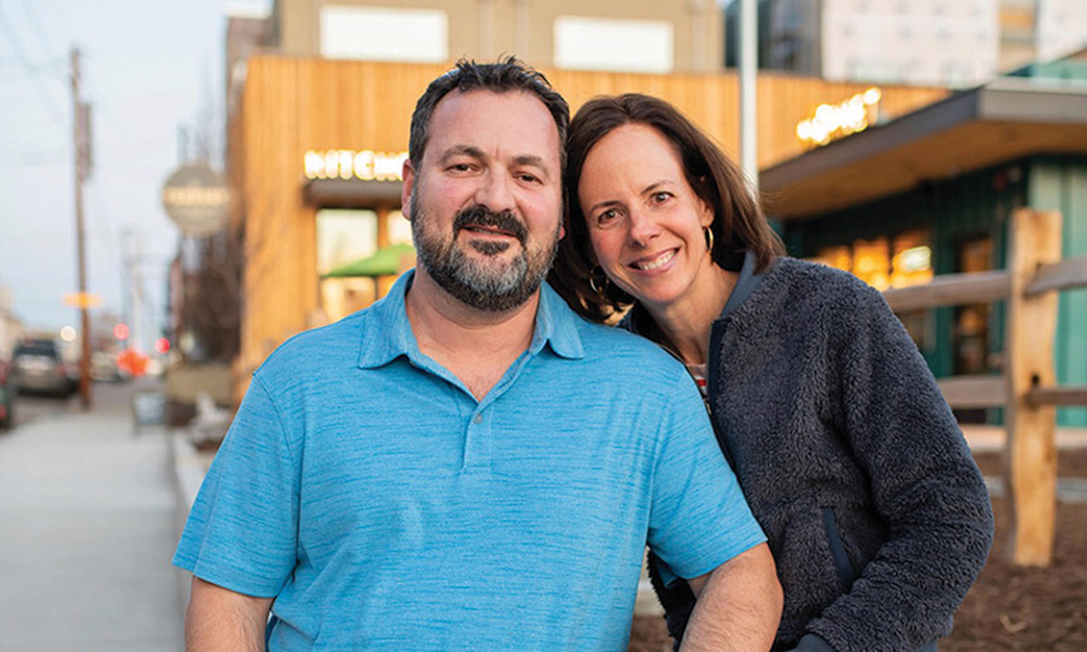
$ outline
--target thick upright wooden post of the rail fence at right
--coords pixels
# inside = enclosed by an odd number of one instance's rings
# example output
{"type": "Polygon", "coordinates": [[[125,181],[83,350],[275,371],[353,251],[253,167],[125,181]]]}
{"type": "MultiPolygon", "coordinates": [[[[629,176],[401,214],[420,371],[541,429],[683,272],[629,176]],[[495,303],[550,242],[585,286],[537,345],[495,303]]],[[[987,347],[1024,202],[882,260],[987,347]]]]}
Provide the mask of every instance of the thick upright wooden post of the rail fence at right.
{"type": "Polygon", "coordinates": [[[1057,512],[1057,409],[1028,399],[1032,389],[1052,386],[1057,292],[1026,297],[1039,265],[1061,260],[1061,214],[1020,209],[1011,222],[1011,296],[1008,299],[1008,446],[1012,562],[1048,566],[1057,512]]]}

